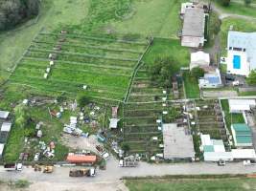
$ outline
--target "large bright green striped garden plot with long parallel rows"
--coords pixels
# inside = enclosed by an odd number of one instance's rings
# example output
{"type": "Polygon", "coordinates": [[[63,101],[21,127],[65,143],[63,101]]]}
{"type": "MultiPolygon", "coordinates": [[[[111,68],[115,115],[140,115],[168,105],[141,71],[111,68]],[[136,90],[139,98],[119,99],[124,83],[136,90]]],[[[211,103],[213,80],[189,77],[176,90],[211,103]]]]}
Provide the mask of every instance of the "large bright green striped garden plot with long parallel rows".
{"type": "Polygon", "coordinates": [[[11,84],[75,96],[122,101],[148,40],[40,33],[10,78],[11,84]],[[58,50],[57,50],[58,49],[58,50]],[[49,56],[54,54],[53,64],[49,56]],[[47,75],[46,75],[47,74],[47,75]],[[87,89],[84,90],[83,87],[87,89]]]}

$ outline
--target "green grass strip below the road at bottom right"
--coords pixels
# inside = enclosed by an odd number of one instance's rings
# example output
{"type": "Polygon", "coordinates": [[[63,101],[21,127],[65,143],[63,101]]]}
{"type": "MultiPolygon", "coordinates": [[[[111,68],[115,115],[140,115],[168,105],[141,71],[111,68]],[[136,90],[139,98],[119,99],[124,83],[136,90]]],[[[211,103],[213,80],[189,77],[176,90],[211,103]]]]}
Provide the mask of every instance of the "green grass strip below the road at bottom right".
{"type": "Polygon", "coordinates": [[[252,191],[255,179],[149,179],[126,180],[130,191],[252,191]]]}

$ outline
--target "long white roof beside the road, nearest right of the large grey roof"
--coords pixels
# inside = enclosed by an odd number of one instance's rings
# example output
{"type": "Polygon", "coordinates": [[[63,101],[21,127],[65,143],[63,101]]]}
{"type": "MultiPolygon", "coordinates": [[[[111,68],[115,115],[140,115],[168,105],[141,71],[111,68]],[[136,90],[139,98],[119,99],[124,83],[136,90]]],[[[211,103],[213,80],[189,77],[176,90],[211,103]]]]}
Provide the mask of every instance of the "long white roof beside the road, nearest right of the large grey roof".
{"type": "Polygon", "coordinates": [[[205,161],[233,160],[231,152],[205,152],[203,157],[205,161]]]}

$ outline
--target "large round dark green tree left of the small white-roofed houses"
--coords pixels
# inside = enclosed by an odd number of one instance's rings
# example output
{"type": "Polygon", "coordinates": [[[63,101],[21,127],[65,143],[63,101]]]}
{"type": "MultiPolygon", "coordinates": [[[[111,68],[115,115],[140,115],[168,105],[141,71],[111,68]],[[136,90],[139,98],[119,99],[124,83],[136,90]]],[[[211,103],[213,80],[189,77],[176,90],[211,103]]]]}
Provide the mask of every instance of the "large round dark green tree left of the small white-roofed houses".
{"type": "Polygon", "coordinates": [[[151,82],[159,86],[171,87],[172,76],[179,71],[180,64],[174,57],[156,58],[154,63],[147,67],[151,82]]]}

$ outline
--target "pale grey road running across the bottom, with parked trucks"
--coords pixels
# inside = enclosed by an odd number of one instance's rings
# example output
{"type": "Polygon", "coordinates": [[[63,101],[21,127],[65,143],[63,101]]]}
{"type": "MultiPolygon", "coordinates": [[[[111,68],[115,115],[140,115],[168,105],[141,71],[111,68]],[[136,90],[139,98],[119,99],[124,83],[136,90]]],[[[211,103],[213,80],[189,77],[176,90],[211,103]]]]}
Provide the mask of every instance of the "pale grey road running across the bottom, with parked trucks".
{"type": "MultiPolygon", "coordinates": [[[[105,190],[116,190],[115,186],[117,185],[120,187],[119,190],[126,190],[127,188],[120,180],[123,177],[250,174],[256,172],[256,165],[244,166],[242,162],[227,163],[226,166],[218,166],[217,163],[213,162],[175,164],[149,164],[141,162],[137,168],[122,168],[118,166],[118,161],[113,158],[107,161],[106,170],[99,170],[97,176],[94,178],[70,178],[68,174],[71,168],[74,167],[56,167],[53,174],[43,174],[41,172],[35,172],[32,167],[25,167],[22,172],[6,172],[3,167],[0,167],[0,180],[25,179],[34,182],[35,185],[43,183],[45,186],[53,186],[51,187],[52,190],[62,190],[63,187],[66,190],[69,187],[72,188],[70,190],[76,190],[79,185],[83,184],[90,185],[88,188],[97,188],[97,190],[101,187],[109,188],[105,190]],[[54,189],[54,186],[56,186],[56,189],[54,189]]],[[[38,188],[37,190],[46,189],[38,188]]]]}

